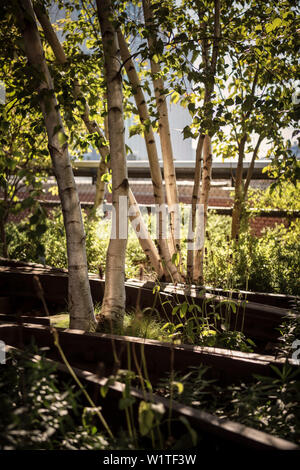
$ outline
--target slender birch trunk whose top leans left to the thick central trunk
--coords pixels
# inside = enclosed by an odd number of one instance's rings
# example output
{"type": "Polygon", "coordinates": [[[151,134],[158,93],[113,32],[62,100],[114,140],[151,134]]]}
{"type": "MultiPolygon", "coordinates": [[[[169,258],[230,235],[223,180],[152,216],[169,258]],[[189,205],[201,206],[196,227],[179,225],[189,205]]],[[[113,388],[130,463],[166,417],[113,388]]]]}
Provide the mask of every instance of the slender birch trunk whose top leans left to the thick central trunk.
{"type": "MultiPolygon", "coordinates": [[[[120,31],[118,31],[118,39],[120,46],[120,53],[122,57],[122,62],[125,65],[125,69],[133,88],[133,96],[136,102],[136,106],[139,112],[139,117],[141,123],[149,123],[150,116],[145,100],[145,96],[138,78],[138,74],[135,70],[132,59],[130,58],[130,53],[126,44],[126,41],[120,31]]],[[[156,149],[156,143],[154,138],[154,132],[151,125],[147,125],[144,130],[144,137],[146,142],[147,154],[150,165],[151,178],[153,183],[153,192],[154,200],[157,206],[162,210],[165,207],[165,197],[163,191],[163,182],[161,176],[161,169],[158,160],[158,154],[156,149]]],[[[165,239],[165,230],[164,230],[164,217],[161,212],[158,215],[158,247],[160,256],[162,258],[163,267],[165,276],[167,279],[172,281],[180,281],[181,276],[177,271],[176,266],[171,261],[171,256],[168,248],[168,244],[165,239]]]]}

